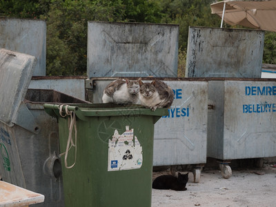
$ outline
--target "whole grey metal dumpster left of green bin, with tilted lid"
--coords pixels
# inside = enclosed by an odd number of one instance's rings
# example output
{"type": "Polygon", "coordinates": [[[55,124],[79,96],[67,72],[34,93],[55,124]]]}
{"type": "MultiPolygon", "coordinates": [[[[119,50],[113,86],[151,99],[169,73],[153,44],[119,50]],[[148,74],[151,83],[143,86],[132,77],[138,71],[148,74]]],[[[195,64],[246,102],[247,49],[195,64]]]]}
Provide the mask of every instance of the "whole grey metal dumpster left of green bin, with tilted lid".
{"type": "Polygon", "coordinates": [[[0,50],[0,177],[64,206],[56,119],[43,103],[87,103],[55,90],[29,89],[35,58],[0,50]]]}

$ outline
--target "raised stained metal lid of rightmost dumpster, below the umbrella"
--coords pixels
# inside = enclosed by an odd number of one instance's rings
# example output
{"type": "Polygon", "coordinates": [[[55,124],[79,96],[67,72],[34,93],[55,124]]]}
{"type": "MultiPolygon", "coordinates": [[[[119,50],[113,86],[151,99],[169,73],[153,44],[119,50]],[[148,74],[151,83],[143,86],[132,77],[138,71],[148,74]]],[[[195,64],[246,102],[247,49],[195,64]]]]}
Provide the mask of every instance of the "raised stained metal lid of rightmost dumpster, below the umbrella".
{"type": "Polygon", "coordinates": [[[260,78],[264,31],[190,27],[186,77],[260,78]]]}

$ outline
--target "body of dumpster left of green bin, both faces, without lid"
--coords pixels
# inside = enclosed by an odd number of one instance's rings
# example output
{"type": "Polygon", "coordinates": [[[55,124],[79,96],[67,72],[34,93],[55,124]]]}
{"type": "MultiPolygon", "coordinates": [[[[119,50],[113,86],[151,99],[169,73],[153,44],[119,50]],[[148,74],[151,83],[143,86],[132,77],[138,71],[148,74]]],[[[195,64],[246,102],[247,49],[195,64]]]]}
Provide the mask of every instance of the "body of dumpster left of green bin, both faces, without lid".
{"type": "Polygon", "coordinates": [[[61,167],[59,170],[57,164],[59,161],[57,120],[48,116],[43,108],[32,109],[31,112],[37,117],[39,126],[43,126],[37,135],[17,125],[10,128],[0,123],[1,152],[6,164],[0,165],[0,175],[4,181],[43,194],[45,196],[43,204],[36,206],[61,207],[64,204],[61,174],[57,172],[61,172],[61,167]],[[3,154],[3,146],[6,146],[6,155],[3,154]],[[6,159],[10,161],[10,170],[7,170],[6,159]]]}

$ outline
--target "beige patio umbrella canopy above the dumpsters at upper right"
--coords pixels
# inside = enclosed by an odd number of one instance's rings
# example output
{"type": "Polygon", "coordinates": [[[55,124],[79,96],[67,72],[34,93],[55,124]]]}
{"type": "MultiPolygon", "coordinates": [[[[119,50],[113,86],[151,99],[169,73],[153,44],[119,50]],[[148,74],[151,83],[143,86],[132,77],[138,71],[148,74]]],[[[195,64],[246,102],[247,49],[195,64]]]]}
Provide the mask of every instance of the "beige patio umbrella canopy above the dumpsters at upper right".
{"type": "Polygon", "coordinates": [[[221,17],[231,26],[276,32],[276,0],[271,1],[220,1],[212,3],[212,14],[221,17]]]}

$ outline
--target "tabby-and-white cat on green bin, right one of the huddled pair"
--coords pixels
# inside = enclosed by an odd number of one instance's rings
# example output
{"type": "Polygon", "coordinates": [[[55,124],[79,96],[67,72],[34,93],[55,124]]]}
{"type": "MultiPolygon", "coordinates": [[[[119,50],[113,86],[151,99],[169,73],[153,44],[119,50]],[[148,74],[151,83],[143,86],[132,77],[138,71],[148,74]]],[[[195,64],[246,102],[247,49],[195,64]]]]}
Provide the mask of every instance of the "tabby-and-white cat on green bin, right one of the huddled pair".
{"type": "Polygon", "coordinates": [[[151,110],[156,108],[169,108],[172,106],[174,92],[163,81],[154,80],[151,83],[143,83],[138,79],[140,86],[140,104],[151,110]]]}

